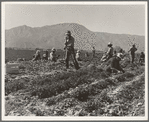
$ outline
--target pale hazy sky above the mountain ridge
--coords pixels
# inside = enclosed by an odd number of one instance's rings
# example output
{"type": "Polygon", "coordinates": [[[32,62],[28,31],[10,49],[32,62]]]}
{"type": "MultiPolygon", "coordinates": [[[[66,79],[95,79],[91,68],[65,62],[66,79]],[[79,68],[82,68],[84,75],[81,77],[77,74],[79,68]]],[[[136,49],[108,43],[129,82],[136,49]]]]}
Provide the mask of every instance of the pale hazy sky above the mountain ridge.
{"type": "Polygon", "coordinates": [[[145,35],[144,5],[6,4],[5,28],[78,23],[91,31],[145,35]]]}

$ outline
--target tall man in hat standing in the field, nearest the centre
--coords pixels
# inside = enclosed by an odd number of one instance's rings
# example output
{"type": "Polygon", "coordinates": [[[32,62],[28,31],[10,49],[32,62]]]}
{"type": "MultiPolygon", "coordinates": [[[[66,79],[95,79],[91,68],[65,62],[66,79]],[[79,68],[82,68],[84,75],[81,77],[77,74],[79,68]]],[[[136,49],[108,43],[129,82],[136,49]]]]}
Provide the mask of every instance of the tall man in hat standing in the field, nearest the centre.
{"type": "Polygon", "coordinates": [[[65,34],[66,34],[66,37],[65,37],[64,50],[66,51],[66,54],[65,54],[66,68],[69,68],[69,58],[71,56],[73,63],[74,63],[74,66],[75,66],[76,70],[78,70],[79,65],[78,65],[78,62],[77,62],[76,57],[75,57],[74,38],[71,36],[70,31],[67,31],[65,34]]]}

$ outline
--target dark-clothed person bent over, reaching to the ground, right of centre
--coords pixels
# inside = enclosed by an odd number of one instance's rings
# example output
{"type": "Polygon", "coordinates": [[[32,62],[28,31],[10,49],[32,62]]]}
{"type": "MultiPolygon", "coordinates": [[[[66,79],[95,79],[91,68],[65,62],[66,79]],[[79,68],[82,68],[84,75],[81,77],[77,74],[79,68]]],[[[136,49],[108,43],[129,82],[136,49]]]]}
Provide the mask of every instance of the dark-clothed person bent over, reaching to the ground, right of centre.
{"type": "Polygon", "coordinates": [[[108,62],[110,62],[110,65],[106,68],[107,72],[110,73],[120,73],[120,72],[125,72],[122,67],[120,66],[120,61],[122,60],[123,54],[122,53],[117,53],[116,57],[112,57],[108,62]]]}

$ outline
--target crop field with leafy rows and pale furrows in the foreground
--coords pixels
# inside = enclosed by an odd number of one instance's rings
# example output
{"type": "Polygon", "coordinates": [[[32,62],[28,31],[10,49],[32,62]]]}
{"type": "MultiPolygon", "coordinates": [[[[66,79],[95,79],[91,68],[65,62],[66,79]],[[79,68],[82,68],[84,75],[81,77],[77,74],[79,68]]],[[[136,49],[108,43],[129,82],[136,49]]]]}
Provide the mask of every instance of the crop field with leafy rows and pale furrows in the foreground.
{"type": "Polygon", "coordinates": [[[6,116],[144,116],[145,66],[121,61],[123,74],[100,65],[101,54],[72,62],[20,62],[20,74],[5,75],[6,116]]]}

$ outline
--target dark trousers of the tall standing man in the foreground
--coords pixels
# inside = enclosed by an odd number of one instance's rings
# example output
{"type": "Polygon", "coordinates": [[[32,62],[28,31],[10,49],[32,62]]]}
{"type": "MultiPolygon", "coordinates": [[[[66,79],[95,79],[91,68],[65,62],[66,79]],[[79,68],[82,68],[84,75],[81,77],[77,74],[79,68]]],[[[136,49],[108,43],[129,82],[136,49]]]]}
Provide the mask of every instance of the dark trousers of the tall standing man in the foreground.
{"type": "Polygon", "coordinates": [[[69,59],[70,59],[70,56],[72,58],[72,61],[73,61],[73,64],[75,66],[75,69],[79,69],[79,64],[75,58],[75,51],[74,51],[74,48],[72,47],[67,47],[66,48],[66,54],[65,54],[65,62],[66,62],[66,68],[69,68],[69,59]]]}

